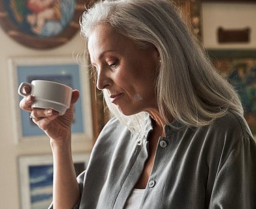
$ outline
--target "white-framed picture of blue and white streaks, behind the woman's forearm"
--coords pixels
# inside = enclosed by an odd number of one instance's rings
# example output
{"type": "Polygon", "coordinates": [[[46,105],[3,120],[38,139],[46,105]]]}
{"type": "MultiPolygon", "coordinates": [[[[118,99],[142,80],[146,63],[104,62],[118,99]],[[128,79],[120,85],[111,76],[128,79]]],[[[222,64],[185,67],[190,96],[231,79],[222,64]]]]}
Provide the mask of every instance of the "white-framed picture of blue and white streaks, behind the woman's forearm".
{"type": "MultiPolygon", "coordinates": [[[[86,169],[89,154],[74,154],[76,176],[86,169]]],[[[45,209],[53,199],[52,155],[23,156],[18,158],[20,181],[20,208],[45,209]]]]}

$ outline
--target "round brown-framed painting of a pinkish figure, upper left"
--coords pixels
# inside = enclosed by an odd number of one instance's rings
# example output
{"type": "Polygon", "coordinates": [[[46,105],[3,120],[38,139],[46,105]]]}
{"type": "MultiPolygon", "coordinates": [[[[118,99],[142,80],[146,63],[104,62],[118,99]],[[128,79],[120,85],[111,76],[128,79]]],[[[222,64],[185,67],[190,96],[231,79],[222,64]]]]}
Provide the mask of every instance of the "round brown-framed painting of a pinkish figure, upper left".
{"type": "Polygon", "coordinates": [[[30,48],[65,44],[79,31],[89,0],[0,0],[0,25],[12,39],[30,48]]]}

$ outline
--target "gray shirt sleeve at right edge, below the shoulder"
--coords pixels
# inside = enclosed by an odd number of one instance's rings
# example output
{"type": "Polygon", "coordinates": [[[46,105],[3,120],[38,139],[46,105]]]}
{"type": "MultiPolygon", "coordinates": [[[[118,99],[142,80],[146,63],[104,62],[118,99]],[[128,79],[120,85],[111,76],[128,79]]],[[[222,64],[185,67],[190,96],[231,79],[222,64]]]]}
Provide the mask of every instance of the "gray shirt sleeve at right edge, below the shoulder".
{"type": "Polygon", "coordinates": [[[256,143],[244,138],[219,165],[209,208],[256,208],[256,143]]]}

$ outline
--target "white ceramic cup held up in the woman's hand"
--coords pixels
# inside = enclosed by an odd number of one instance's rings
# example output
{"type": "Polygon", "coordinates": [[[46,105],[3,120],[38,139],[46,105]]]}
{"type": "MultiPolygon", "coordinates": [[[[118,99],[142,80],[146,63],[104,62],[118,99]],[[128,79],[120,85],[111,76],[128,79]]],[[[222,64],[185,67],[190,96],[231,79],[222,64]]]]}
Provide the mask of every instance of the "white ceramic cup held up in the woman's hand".
{"type": "Polygon", "coordinates": [[[35,97],[31,108],[53,109],[59,112],[59,115],[63,115],[70,108],[72,88],[58,82],[32,80],[31,83],[21,83],[18,87],[18,94],[23,97],[28,95],[35,97]],[[23,93],[25,86],[30,87],[30,93],[23,93]]]}

